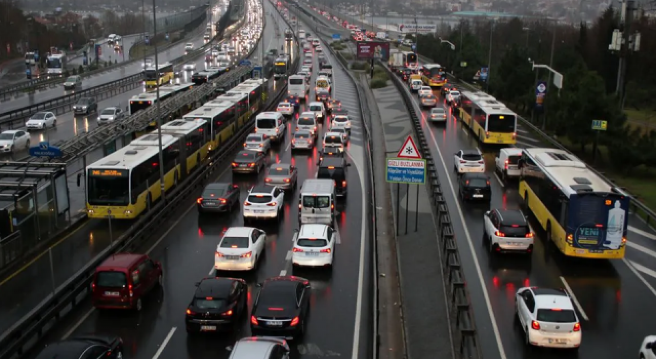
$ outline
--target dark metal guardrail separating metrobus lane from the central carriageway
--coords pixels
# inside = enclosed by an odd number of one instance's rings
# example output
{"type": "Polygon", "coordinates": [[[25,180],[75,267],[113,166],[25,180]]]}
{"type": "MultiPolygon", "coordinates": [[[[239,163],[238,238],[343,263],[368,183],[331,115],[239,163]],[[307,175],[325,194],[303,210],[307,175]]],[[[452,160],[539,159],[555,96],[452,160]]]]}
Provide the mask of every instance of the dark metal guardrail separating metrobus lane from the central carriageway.
{"type": "MultiPolygon", "coordinates": [[[[247,56],[251,56],[255,49],[256,46],[247,56]]],[[[293,67],[298,67],[298,60],[294,62],[293,67]]],[[[286,90],[287,84],[285,83],[278,89],[277,94],[272,96],[266,104],[266,108],[270,109],[276,106],[278,100],[285,95],[286,90]]],[[[253,117],[255,117],[255,114],[253,117]]],[[[232,161],[232,157],[228,154],[230,150],[241,146],[243,138],[251,133],[255,127],[253,117],[230,140],[224,142],[221,150],[216,151],[213,158],[206,161],[209,163],[207,166],[197,167],[190,177],[171,192],[171,200],[167,202],[159,201],[150,212],[146,213],[144,217],[117,238],[110,247],[102,251],[90,263],[60,285],[54,295],[51,294],[44,298],[39,305],[3,333],[0,336],[0,359],[20,358],[39,339],[43,339],[49,331],[52,331],[55,324],[71,312],[73,306],[79,304],[91,293],[91,282],[95,269],[99,264],[113,253],[135,251],[150,238],[157,228],[161,228],[165,223],[170,223],[171,218],[177,215],[180,205],[186,204],[185,200],[189,198],[190,194],[203,186],[220,165],[223,165],[226,161],[232,161]]]]}

